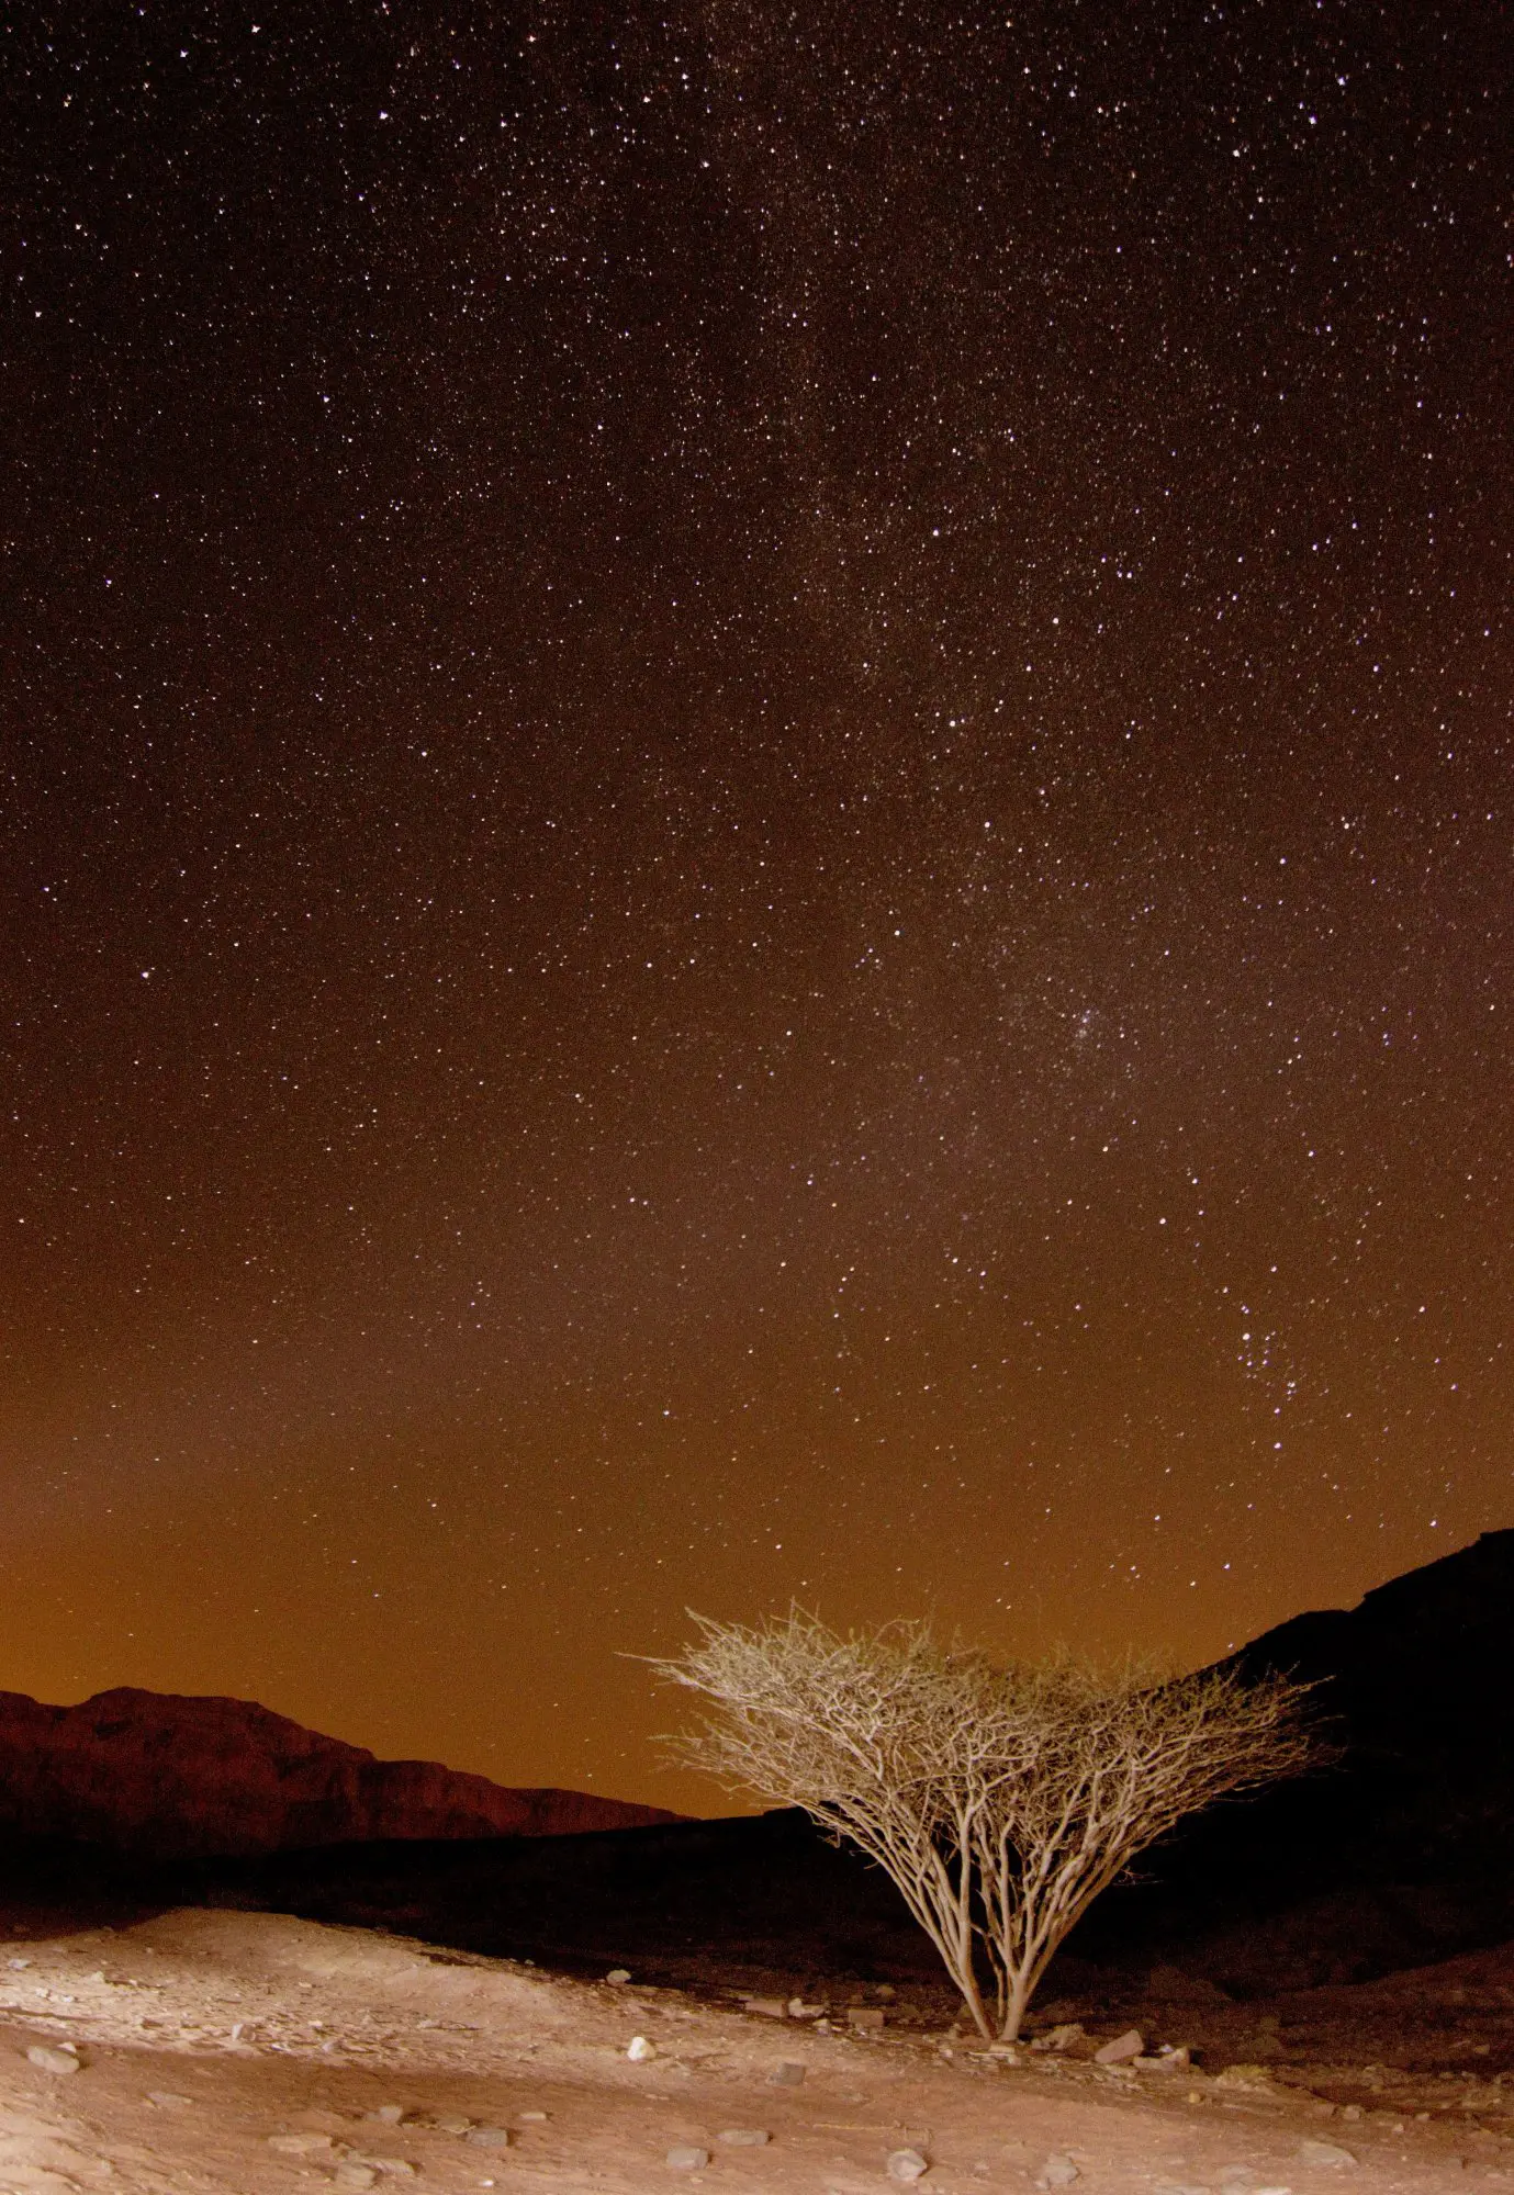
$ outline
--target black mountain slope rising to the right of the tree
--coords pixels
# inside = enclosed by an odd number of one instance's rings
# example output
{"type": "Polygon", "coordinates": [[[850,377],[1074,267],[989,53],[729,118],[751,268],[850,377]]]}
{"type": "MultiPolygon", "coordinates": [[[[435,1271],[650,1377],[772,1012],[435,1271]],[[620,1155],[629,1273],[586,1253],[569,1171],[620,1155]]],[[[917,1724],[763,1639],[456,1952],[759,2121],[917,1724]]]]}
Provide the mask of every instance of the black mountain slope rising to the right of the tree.
{"type": "Polygon", "coordinates": [[[1295,1616],[1233,1664],[1310,1681],[1336,1763],[1196,1817],[1077,1949],[1176,1934],[1244,1980],[1249,1956],[1308,1943],[1317,1980],[1354,1980],[1514,1934],[1514,1532],[1295,1616]]]}

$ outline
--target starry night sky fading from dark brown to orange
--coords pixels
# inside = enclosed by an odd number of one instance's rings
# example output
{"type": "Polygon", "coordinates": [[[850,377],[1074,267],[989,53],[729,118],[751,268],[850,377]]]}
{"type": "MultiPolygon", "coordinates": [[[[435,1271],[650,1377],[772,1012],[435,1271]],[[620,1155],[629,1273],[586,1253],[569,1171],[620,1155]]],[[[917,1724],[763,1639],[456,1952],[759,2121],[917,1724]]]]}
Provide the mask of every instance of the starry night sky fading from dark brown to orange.
{"type": "Polygon", "coordinates": [[[1492,4],[22,7],[0,1684],[713,1806],[1514,1521],[1492,4]]]}

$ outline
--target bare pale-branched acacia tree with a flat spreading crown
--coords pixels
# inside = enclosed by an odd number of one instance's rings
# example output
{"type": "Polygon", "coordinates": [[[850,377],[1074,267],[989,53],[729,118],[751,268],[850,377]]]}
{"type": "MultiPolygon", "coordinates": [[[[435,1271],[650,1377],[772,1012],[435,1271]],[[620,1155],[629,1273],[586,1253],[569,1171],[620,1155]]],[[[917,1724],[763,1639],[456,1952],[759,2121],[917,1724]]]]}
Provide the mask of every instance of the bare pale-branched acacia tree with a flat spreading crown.
{"type": "Polygon", "coordinates": [[[1020,2033],[1053,1951],[1137,1853],[1314,1756],[1308,1688],[1284,1677],[1163,1681],[1071,1655],[1001,1668],[928,1624],[843,1637],[799,1609],[693,1622],[698,1640],[654,1662],[709,1703],[678,1758],[878,1861],[983,2037],[1020,2033]]]}

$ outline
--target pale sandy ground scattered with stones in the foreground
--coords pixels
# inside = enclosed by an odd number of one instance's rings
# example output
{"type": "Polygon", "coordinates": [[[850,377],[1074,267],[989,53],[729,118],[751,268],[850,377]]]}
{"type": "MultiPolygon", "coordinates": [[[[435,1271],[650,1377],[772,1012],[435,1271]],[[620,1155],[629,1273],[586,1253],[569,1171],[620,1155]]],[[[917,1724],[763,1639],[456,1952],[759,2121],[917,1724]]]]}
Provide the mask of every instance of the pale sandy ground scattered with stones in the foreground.
{"type": "Polygon", "coordinates": [[[270,1914],[0,1940],[0,2195],[860,2195],[902,2184],[895,2151],[926,2160],[924,2195],[1514,2186],[1514,2094],[1505,2134],[1496,2083],[1457,2079],[1420,2118],[1396,2079],[1005,2063],[939,2028],[854,2035],[843,2006],[821,2030],[270,1914]],[[64,2044],[77,2072],[26,2057],[64,2044]]]}

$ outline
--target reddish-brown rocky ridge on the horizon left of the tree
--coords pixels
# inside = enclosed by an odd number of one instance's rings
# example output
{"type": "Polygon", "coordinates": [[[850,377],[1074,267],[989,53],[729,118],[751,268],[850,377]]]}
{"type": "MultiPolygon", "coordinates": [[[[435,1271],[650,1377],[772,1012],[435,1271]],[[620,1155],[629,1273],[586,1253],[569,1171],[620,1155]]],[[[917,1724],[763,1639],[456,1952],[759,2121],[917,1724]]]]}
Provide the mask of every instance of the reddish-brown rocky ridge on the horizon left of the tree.
{"type": "Polygon", "coordinates": [[[246,1699],[121,1686],[48,1708],[0,1692],[0,1833],[18,1837],[184,1859],[676,1820],[584,1791],[509,1791],[434,1760],[375,1760],[246,1699]]]}

